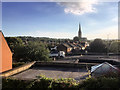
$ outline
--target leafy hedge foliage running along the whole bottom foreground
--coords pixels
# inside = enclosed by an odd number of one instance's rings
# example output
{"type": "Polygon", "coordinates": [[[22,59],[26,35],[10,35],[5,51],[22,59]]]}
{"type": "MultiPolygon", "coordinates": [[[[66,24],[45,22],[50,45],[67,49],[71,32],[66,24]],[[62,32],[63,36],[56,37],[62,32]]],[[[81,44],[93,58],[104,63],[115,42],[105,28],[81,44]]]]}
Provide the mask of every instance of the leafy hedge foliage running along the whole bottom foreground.
{"type": "Polygon", "coordinates": [[[61,79],[51,79],[46,78],[45,76],[40,76],[36,80],[25,81],[17,80],[11,78],[4,78],[3,89],[5,88],[43,88],[44,90],[61,90],[61,89],[74,89],[74,90],[96,90],[96,89],[120,89],[120,77],[98,77],[98,78],[88,78],[82,82],[76,82],[71,78],[61,78],[61,79]]]}

